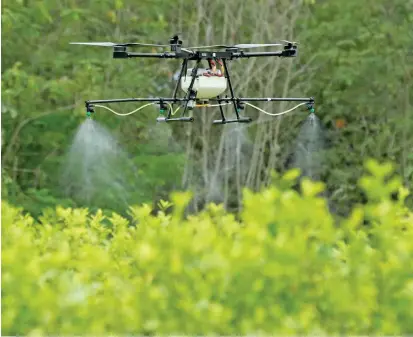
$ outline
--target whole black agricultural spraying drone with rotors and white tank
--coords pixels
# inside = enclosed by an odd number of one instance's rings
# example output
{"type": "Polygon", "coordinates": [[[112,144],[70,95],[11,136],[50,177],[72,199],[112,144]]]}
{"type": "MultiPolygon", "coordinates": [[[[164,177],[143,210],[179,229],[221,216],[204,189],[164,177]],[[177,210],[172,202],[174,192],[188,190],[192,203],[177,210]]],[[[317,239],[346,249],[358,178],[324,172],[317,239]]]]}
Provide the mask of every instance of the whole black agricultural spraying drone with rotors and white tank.
{"type": "MultiPolygon", "coordinates": [[[[211,45],[184,47],[182,40],[177,35],[169,40],[169,44],[152,43],[113,43],[113,42],[71,42],[71,44],[102,46],[113,48],[114,59],[128,58],[155,58],[155,59],[180,59],[182,60],[179,77],[172,93],[172,97],[156,98],[119,98],[85,101],[86,115],[91,116],[95,112],[95,106],[105,103],[121,102],[148,102],[159,106],[158,122],[193,122],[194,117],[188,116],[189,111],[196,107],[219,106],[221,119],[214,120],[213,124],[227,123],[250,123],[252,118],[242,117],[241,111],[245,109],[248,102],[276,102],[290,101],[301,102],[299,105],[306,105],[307,109],[314,112],[314,98],[259,98],[259,97],[237,97],[228,69],[228,61],[251,57],[296,57],[297,43],[282,40],[283,43],[271,44],[236,44],[236,45],[211,45]],[[267,52],[247,52],[245,49],[263,47],[283,47],[281,51],[267,52]],[[128,51],[128,47],[162,47],[169,48],[169,51],[161,53],[137,53],[128,51]],[[195,62],[192,68],[188,68],[189,62],[195,62]],[[202,67],[202,61],[207,61],[209,67],[202,67]],[[218,69],[219,68],[219,69],[218,69]],[[181,88],[184,95],[179,97],[178,90],[181,88]],[[229,89],[229,93],[228,93],[229,89]],[[225,97],[223,95],[225,94],[225,97]],[[215,102],[218,104],[211,104],[215,102]],[[228,119],[224,115],[223,105],[233,106],[236,118],[228,119]],[[178,109],[174,110],[174,105],[178,109]],[[183,107],[180,117],[174,117],[177,110],[183,107]]],[[[105,106],[100,106],[105,107],[105,106]]],[[[141,107],[142,108],[142,107],[141,107]]],[[[257,107],[256,107],[257,108],[257,107]]],[[[259,109],[259,108],[257,108],[259,109]]],[[[109,109],[110,110],[110,109],[109,109]]],[[[137,109],[139,110],[139,109],[137,109]]],[[[135,110],[135,111],[137,111],[135,110]]],[[[260,109],[259,109],[260,110],[260,109]]],[[[113,110],[112,110],[113,111],[113,110]]],[[[134,112],[135,112],[134,111],[134,112]]]]}

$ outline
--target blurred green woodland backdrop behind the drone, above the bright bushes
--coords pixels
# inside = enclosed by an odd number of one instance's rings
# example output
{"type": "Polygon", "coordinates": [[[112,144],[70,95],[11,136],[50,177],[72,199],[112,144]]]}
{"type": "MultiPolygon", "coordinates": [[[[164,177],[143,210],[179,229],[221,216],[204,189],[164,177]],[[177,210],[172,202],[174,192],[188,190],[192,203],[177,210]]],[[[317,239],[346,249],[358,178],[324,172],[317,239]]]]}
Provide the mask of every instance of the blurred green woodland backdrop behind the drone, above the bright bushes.
{"type": "Polygon", "coordinates": [[[394,161],[412,188],[412,27],[406,0],[4,0],[2,198],[34,216],[56,205],[123,214],[190,189],[194,211],[210,201],[236,211],[244,187],[298,167],[346,215],[364,200],[356,184],[368,157],[394,161]],[[156,107],[96,109],[85,122],[85,100],[170,97],[180,61],[112,59],[111,48],[70,42],[167,44],[174,34],[186,46],[298,41],[297,58],[232,61],[231,76],[241,97],[315,97],[316,123],[305,109],[250,107],[250,125],[214,126],[217,109],[157,124],[156,107]]]}

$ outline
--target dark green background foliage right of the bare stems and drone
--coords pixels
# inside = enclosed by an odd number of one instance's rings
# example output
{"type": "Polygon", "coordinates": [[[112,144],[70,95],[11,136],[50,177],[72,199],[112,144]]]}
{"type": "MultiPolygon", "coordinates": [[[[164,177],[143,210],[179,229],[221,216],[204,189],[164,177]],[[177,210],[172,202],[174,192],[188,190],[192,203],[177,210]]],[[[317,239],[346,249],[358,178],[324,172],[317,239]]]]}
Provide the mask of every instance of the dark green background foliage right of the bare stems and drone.
{"type": "Polygon", "coordinates": [[[315,1],[300,21],[301,57],[317,70],[316,111],[332,141],[326,183],[341,213],[362,200],[355,185],[366,157],[397,162],[413,187],[412,9],[404,0],[315,1]]]}

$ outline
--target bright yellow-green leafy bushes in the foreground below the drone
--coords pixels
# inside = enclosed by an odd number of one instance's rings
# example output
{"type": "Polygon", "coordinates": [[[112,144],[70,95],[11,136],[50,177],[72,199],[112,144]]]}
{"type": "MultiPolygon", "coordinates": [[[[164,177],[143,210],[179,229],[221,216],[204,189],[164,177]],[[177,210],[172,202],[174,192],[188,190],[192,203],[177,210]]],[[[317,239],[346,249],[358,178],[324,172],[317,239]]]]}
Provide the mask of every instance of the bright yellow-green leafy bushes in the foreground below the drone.
{"type": "Polygon", "coordinates": [[[344,220],[322,184],[291,189],[295,171],[245,191],[239,220],[184,217],[188,193],[131,207],[134,223],[62,207],[35,222],[3,201],[3,334],[413,333],[407,191],[391,165],[367,169],[344,220]]]}

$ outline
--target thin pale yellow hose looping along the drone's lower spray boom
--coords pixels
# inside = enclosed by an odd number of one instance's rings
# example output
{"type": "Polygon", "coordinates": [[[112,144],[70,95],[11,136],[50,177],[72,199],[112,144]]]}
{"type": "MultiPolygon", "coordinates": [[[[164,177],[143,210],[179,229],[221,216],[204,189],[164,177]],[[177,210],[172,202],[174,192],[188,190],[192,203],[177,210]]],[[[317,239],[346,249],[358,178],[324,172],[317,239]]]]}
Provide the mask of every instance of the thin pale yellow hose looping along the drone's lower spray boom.
{"type": "MultiPolygon", "coordinates": [[[[148,104],[145,104],[145,105],[143,105],[143,106],[141,106],[141,107],[139,107],[139,108],[137,108],[137,109],[135,109],[135,110],[132,110],[132,111],[127,112],[127,113],[124,113],[124,114],[123,114],[123,113],[116,112],[115,110],[113,110],[113,109],[111,109],[111,108],[109,108],[109,107],[107,107],[107,106],[104,106],[104,105],[98,105],[98,104],[96,104],[96,105],[93,105],[93,107],[104,108],[104,109],[109,110],[109,111],[111,111],[112,113],[114,113],[115,115],[118,115],[118,116],[129,116],[129,115],[134,114],[135,112],[138,112],[138,111],[142,110],[143,108],[146,108],[147,106],[155,105],[155,104],[157,104],[157,103],[153,103],[153,102],[152,102],[152,103],[148,103],[148,104]]],[[[169,109],[172,111],[172,112],[171,112],[171,115],[172,115],[172,116],[175,115],[175,114],[178,112],[178,110],[181,108],[181,107],[179,106],[178,108],[176,108],[175,111],[173,111],[172,105],[171,105],[170,103],[168,103],[168,102],[166,102],[166,104],[169,106],[169,109]]],[[[212,107],[224,106],[224,105],[228,105],[228,104],[231,104],[231,103],[224,103],[224,104],[197,104],[196,107],[212,108],[212,107]]],[[[258,111],[260,111],[260,112],[262,112],[262,113],[265,113],[266,115],[269,115],[269,116],[280,116],[280,115],[284,115],[284,114],[286,114],[286,113],[289,113],[289,112],[297,109],[298,107],[300,107],[300,106],[302,106],[302,105],[307,105],[307,110],[309,110],[310,113],[314,113],[314,111],[315,111],[315,110],[314,110],[314,105],[313,105],[313,103],[307,103],[307,102],[297,104],[296,106],[292,107],[291,109],[288,109],[288,110],[285,110],[285,111],[282,111],[282,112],[278,112],[278,113],[271,113],[271,112],[265,111],[265,110],[259,108],[258,106],[254,105],[254,104],[251,104],[251,103],[248,103],[248,102],[245,102],[245,104],[247,104],[247,105],[249,105],[250,107],[252,107],[252,108],[254,108],[254,109],[256,109],[256,110],[258,110],[258,111]]],[[[91,117],[91,113],[94,112],[93,107],[88,107],[88,109],[87,109],[86,116],[89,117],[89,118],[91,117]]],[[[160,111],[160,113],[163,115],[163,114],[165,113],[165,108],[161,105],[161,108],[160,108],[159,111],[160,111]]]]}

